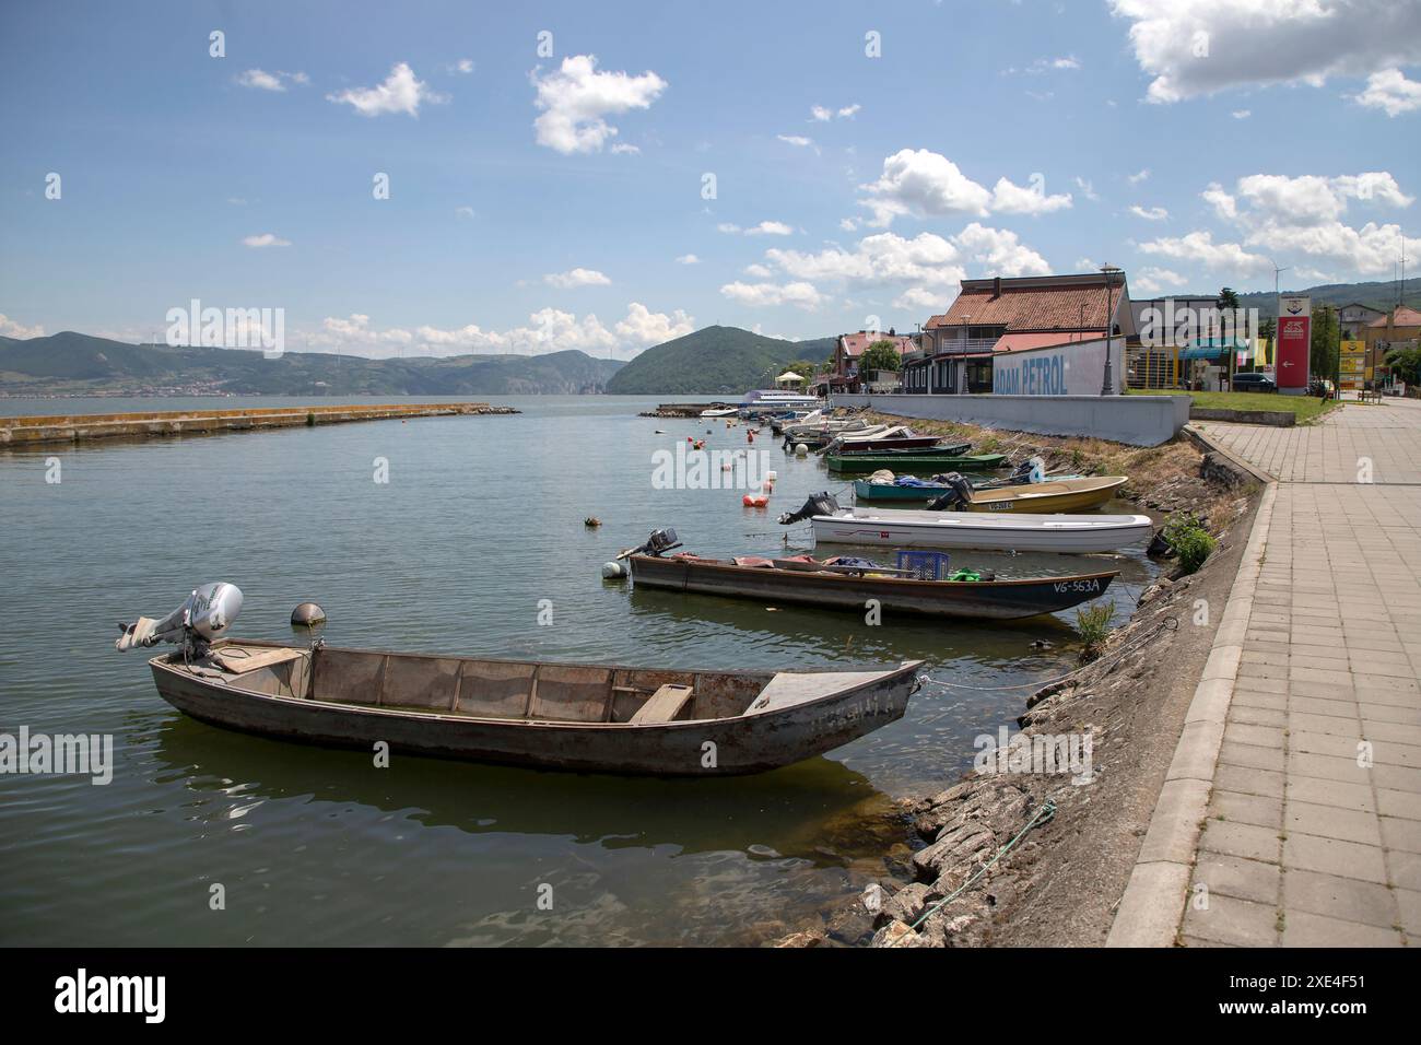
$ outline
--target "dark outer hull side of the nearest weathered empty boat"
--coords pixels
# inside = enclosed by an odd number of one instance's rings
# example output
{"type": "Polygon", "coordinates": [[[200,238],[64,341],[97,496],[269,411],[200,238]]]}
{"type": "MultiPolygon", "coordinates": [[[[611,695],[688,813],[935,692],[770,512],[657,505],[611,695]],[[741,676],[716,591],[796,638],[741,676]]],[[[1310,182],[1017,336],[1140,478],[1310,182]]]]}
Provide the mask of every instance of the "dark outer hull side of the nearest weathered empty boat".
{"type": "MultiPolygon", "coordinates": [[[[504,721],[259,694],[165,661],[149,661],[159,695],[183,714],[226,729],[364,751],[385,742],[395,754],[539,769],[701,778],[777,769],[897,721],[918,687],[921,665],[909,661],[890,671],[843,672],[850,682],[863,681],[793,707],[756,712],[752,705],[752,711],[730,718],[631,725],[504,721]],[[713,765],[706,765],[708,752],[715,755],[713,765]]],[[[722,682],[740,674],[747,685],[756,685],[793,672],[695,674],[722,682]]]]}

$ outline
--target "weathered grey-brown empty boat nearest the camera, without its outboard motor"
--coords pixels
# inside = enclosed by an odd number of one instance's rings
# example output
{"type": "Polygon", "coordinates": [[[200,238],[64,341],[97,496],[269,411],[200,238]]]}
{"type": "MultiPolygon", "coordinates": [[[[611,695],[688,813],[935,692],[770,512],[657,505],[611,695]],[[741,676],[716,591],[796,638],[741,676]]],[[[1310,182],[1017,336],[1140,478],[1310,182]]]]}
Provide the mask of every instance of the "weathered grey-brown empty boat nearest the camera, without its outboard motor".
{"type": "Polygon", "coordinates": [[[180,653],[149,664],[159,695],[179,711],[277,739],[365,751],[385,741],[395,752],[541,769],[726,776],[813,758],[897,721],[921,661],[678,671],[219,640],[190,664],[180,653]]]}

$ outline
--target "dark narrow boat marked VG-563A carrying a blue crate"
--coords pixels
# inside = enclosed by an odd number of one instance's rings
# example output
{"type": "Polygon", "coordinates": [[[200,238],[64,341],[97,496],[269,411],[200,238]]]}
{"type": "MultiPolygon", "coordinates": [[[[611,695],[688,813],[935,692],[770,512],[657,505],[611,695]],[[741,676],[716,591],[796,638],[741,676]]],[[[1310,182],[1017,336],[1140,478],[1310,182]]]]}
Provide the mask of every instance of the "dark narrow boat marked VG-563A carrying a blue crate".
{"type": "Polygon", "coordinates": [[[791,560],[777,560],[773,566],[740,566],[715,559],[634,554],[628,562],[632,583],[638,587],[767,603],[807,603],[857,613],[863,613],[870,599],[877,599],[888,613],[976,620],[1013,620],[1069,610],[1104,594],[1120,573],[1104,570],[1020,580],[917,580],[824,569],[823,564],[816,569],[813,563],[791,560]]]}

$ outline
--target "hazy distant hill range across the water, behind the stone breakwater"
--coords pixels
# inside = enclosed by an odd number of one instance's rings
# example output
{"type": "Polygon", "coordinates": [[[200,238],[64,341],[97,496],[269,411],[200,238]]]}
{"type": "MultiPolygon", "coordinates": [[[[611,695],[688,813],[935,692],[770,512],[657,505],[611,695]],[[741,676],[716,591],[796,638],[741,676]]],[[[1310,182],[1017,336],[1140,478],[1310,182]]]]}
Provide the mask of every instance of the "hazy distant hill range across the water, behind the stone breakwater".
{"type": "Polygon", "coordinates": [[[0,338],[9,395],[556,395],[600,392],[622,364],[570,350],[547,355],[365,360],[239,348],[169,348],[64,331],[0,338]]]}

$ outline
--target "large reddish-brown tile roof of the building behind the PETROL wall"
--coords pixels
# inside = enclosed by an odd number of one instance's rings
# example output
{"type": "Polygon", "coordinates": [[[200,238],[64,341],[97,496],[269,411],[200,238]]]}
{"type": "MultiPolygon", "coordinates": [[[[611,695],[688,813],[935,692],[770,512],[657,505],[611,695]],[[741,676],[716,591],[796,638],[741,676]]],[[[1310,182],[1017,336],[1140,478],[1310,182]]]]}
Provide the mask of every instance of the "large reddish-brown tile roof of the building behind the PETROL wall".
{"type": "MultiPolygon", "coordinates": [[[[1111,299],[1118,306],[1124,284],[1117,283],[1111,299]]],[[[1023,330],[1104,330],[1106,326],[1106,282],[1061,282],[1049,286],[1047,280],[1002,280],[1000,294],[989,280],[968,280],[952,307],[942,316],[928,320],[926,328],[958,326],[1006,326],[1010,331],[1023,330]]]]}

